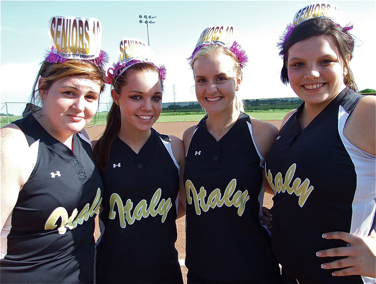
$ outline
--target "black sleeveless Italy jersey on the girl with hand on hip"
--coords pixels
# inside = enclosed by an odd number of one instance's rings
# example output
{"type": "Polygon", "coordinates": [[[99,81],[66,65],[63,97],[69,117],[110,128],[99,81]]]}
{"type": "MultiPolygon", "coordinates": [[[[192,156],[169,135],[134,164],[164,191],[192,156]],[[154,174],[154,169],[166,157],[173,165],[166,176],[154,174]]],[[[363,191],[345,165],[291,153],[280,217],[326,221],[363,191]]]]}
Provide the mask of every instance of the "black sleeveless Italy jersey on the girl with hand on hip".
{"type": "Polygon", "coordinates": [[[304,103],[282,127],[265,170],[274,190],[273,250],[286,273],[300,283],[375,283],[376,279],[332,276],[318,250],[346,246],[322,234],[342,231],[359,237],[374,228],[374,155],[343,136],[347,118],[362,96],[346,88],[303,130],[297,120],[304,103]]]}

